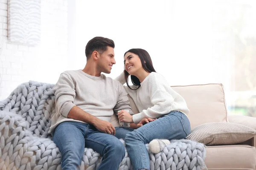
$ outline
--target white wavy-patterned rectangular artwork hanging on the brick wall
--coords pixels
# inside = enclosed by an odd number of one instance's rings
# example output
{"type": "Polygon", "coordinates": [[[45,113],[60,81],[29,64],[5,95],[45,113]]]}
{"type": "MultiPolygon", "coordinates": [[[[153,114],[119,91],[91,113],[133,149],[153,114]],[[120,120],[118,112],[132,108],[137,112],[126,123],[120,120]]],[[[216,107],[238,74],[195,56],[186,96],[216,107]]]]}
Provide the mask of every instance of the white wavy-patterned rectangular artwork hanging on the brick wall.
{"type": "Polygon", "coordinates": [[[41,40],[41,1],[8,0],[10,42],[38,45],[41,40]]]}

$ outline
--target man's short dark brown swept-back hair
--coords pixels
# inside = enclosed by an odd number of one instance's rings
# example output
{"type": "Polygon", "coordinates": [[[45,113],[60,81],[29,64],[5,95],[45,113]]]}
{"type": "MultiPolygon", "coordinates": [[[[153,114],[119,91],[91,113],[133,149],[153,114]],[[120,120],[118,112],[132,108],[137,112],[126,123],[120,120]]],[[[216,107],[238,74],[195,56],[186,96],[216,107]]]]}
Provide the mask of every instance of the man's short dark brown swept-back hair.
{"type": "Polygon", "coordinates": [[[113,40],[104,37],[94,37],[85,46],[85,56],[87,59],[93,54],[93,51],[97,51],[99,54],[107,51],[108,46],[115,48],[113,40]]]}

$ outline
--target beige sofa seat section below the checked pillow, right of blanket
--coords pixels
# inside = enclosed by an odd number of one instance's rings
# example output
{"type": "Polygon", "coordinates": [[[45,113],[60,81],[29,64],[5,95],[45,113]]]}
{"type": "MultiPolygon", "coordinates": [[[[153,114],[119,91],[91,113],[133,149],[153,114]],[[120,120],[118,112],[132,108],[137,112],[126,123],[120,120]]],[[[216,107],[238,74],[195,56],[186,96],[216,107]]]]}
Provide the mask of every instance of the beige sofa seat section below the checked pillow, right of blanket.
{"type": "Polygon", "coordinates": [[[245,144],[208,146],[205,164],[208,170],[254,170],[256,149],[245,144]]]}

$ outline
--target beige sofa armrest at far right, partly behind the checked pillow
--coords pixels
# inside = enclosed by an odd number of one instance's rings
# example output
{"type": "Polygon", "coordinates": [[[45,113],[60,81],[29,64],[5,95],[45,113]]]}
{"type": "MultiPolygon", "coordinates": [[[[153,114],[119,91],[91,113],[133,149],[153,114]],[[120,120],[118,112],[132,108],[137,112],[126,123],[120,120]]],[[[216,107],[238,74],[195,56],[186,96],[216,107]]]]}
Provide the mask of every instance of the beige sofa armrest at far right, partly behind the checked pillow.
{"type": "MultiPolygon", "coordinates": [[[[256,117],[243,116],[243,115],[228,115],[228,122],[245,125],[256,130],[256,117]]],[[[248,144],[250,146],[256,147],[255,136],[243,142],[243,144],[248,144]]]]}

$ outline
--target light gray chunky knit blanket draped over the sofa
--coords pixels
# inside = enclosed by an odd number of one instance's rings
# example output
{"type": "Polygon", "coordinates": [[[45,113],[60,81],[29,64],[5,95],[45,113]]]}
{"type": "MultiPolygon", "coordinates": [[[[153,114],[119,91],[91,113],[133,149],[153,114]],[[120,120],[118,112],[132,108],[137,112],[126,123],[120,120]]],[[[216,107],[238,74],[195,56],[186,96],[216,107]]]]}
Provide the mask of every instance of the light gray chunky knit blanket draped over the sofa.
{"type": "MultiPolygon", "coordinates": [[[[0,102],[1,170],[61,170],[61,153],[48,133],[55,113],[53,86],[25,82],[0,102]]],[[[151,170],[201,170],[204,167],[206,153],[201,143],[172,140],[157,154],[150,152],[148,144],[146,146],[151,170]]],[[[81,169],[97,169],[101,158],[99,153],[84,148],[81,169]]],[[[127,152],[119,170],[132,170],[127,152]]]]}

